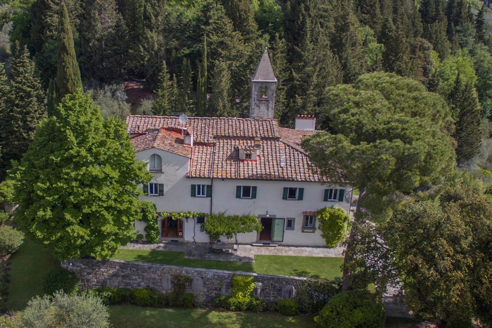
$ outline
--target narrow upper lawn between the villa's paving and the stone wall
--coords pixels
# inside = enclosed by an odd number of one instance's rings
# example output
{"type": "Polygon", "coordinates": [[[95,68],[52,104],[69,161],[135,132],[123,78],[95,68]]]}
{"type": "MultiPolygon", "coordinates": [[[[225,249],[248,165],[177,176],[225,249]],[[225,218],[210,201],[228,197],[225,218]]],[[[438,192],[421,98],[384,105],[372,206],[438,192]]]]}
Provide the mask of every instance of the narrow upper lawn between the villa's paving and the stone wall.
{"type": "Polygon", "coordinates": [[[113,259],[324,279],[334,279],[341,276],[340,266],[343,263],[343,258],[337,257],[284,255],[255,255],[254,263],[198,260],[186,259],[184,252],[136,249],[120,249],[113,259]]]}

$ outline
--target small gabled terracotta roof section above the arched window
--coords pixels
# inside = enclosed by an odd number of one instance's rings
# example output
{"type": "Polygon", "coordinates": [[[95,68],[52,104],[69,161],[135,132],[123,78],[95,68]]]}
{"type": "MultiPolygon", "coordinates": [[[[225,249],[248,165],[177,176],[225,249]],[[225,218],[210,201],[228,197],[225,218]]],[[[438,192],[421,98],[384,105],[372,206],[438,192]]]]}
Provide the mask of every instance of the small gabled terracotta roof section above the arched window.
{"type": "Polygon", "coordinates": [[[150,148],[166,150],[178,155],[191,157],[191,147],[183,144],[181,132],[160,128],[156,131],[136,135],[130,138],[135,151],[150,148]]]}

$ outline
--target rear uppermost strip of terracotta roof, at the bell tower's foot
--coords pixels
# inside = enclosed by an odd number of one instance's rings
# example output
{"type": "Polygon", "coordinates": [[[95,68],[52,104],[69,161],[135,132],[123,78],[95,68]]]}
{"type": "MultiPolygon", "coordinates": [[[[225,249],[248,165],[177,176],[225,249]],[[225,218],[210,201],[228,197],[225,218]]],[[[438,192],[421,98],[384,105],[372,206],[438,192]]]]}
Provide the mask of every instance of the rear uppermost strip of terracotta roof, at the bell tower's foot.
{"type": "MultiPolygon", "coordinates": [[[[126,117],[128,133],[145,132],[163,126],[177,128],[176,116],[130,115],[126,117]]],[[[238,118],[202,118],[190,117],[185,127],[193,132],[193,139],[200,143],[213,142],[214,137],[262,137],[278,138],[278,125],[275,119],[238,119],[238,118]]]]}

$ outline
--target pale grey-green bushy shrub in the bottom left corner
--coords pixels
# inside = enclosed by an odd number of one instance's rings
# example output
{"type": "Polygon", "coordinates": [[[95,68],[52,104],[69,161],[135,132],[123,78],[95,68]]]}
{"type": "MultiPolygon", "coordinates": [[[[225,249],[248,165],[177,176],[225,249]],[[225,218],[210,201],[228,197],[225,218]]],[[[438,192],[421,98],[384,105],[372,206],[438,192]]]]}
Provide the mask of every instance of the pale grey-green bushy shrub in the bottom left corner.
{"type": "Polygon", "coordinates": [[[24,328],[109,328],[109,313],[100,298],[56,292],[32,298],[21,313],[24,328]]]}

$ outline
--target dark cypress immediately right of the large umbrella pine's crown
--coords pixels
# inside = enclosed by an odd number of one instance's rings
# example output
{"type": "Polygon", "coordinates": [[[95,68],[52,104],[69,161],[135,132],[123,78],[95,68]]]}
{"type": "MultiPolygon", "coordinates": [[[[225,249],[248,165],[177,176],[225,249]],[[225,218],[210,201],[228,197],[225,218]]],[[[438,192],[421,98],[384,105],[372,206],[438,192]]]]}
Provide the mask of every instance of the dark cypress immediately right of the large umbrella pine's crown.
{"type": "Polygon", "coordinates": [[[460,74],[450,94],[452,116],[456,121],[453,135],[458,147],[456,161],[459,166],[475,157],[481,145],[480,122],[482,119],[477,91],[471,83],[463,85],[460,74]]]}

